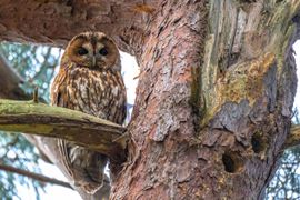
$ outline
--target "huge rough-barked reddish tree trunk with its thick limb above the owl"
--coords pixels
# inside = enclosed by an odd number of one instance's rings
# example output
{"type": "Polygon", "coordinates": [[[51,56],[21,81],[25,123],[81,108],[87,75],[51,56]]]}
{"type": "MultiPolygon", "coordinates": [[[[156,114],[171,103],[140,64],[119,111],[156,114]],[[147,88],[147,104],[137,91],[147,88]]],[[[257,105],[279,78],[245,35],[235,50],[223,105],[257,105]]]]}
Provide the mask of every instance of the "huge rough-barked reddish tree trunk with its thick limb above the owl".
{"type": "Polygon", "coordinates": [[[61,44],[100,30],[136,54],[129,157],[111,199],[263,198],[290,130],[299,1],[1,2],[2,39],[61,44]]]}

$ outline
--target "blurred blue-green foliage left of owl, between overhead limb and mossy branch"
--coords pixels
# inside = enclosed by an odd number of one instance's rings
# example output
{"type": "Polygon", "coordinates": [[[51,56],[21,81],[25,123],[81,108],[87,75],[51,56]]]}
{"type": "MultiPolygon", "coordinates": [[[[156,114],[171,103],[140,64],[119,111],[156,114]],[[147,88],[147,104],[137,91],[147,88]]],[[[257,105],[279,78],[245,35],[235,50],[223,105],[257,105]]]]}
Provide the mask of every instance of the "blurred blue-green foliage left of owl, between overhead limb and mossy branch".
{"type": "Polygon", "coordinates": [[[23,89],[28,93],[32,93],[34,87],[38,87],[40,97],[49,101],[49,86],[59,64],[61,49],[2,42],[0,53],[26,80],[23,89]]]}

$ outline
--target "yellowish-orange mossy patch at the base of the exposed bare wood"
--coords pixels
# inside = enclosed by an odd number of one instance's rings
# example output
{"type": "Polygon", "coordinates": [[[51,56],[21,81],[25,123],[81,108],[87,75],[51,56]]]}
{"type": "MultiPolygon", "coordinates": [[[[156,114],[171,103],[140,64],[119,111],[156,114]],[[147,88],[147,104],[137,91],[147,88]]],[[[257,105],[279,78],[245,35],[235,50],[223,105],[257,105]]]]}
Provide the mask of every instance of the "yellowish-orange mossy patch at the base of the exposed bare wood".
{"type": "Polygon", "coordinates": [[[206,126],[226,102],[239,103],[247,99],[252,106],[257,98],[263,94],[263,77],[274,62],[274,54],[266,53],[257,60],[237,64],[228,70],[217,81],[213,92],[208,92],[206,97],[210,103],[200,122],[201,127],[206,126]]]}

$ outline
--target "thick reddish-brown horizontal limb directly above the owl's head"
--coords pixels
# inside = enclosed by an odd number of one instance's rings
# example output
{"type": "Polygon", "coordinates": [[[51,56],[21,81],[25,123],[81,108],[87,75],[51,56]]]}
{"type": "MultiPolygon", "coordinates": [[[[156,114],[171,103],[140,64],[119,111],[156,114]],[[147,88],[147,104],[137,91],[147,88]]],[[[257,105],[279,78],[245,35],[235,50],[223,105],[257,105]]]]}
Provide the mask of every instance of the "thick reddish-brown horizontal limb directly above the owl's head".
{"type": "Polygon", "coordinates": [[[62,47],[79,32],[103,31],[116,39],[119,48],[128,50],[137,40],[127,33],[140,34],[144,19],[152,14],[156,4],[157,0],[2,0],[0,39],[62,47]]]}

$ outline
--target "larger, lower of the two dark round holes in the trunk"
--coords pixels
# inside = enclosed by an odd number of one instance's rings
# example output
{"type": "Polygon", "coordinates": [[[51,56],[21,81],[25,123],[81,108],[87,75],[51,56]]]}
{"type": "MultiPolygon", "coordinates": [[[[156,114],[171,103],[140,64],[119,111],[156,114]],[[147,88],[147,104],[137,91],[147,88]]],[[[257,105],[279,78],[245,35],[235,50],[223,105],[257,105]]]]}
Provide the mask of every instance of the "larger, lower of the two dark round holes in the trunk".
{"type": "Polygon", "coordinates": [[[234,152],[224,152],[222,156],[222,162],[224,164],[224,170],[229,173],[236,173],[243,167],[242,160],[234,152]]]}

